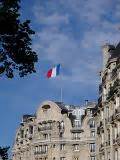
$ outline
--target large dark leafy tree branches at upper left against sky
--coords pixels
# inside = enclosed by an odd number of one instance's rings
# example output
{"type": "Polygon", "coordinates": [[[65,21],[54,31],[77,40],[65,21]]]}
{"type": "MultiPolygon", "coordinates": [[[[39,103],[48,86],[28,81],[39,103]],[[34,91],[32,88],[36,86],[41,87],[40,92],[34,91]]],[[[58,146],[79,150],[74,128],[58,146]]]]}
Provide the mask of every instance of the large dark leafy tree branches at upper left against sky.
{"type": "Polygon", "coordinates": [[[13,78],[35,71],[38,61],[36,52],[31,48],[30,20],[20,21],[20,0],[0,0],[0,75],[13,78]]]}

